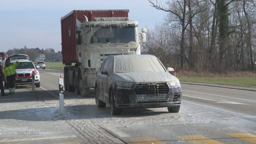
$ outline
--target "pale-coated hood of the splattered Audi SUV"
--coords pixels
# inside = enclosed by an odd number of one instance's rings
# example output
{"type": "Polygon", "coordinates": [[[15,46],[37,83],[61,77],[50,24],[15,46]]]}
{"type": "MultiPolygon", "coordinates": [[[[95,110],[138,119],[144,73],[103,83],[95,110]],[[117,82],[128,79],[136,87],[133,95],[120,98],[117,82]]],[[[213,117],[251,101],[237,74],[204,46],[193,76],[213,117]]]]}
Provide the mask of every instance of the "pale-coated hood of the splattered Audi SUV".
{"type": "Polygon", "coordinates": [[[154,83],[177,80],[167,71],[165,72],[141,72],[141,73],[115,73],[116,81],[129,83],[154,83]]]}

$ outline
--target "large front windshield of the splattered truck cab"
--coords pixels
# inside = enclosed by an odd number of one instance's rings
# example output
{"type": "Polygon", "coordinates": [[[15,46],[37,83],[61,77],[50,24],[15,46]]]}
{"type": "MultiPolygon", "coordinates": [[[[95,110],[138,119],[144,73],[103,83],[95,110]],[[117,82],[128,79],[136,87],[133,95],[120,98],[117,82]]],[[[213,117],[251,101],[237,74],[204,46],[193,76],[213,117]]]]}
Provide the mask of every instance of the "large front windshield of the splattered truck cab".
{"type": "Polygon", "coordinates": [[[134,46],[136,45],[135,27],[102,27],[93,33],[90,44],[134,46]]]}

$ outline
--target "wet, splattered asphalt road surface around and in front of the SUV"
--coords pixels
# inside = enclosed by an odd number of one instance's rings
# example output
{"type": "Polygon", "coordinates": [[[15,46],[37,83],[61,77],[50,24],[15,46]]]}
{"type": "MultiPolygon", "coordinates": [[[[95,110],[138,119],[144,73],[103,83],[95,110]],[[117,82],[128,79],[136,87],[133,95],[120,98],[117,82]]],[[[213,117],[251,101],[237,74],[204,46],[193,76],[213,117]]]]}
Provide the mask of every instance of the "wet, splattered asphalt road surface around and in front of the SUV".
{"type": "Polygon", "coordinates": [[[60,117],[57,89],[63,71],[39,71],[37,90],[45,93],[24,96],[31,86],[21,86],[19,95],[1,97],[0,143],[25,138],[30,139],[23,143],[256,143],[256,92],[182,84],[179,113],[167,108],[124,109],[121,116],[112,116],[109,105],[97,108],[93,90],[86,98],[65,92],[65,117],[60,117]],[[45,134],[14,135],[19,131],[45,134]],[[44,137],[57,138],[33,140],[44,137]]]}

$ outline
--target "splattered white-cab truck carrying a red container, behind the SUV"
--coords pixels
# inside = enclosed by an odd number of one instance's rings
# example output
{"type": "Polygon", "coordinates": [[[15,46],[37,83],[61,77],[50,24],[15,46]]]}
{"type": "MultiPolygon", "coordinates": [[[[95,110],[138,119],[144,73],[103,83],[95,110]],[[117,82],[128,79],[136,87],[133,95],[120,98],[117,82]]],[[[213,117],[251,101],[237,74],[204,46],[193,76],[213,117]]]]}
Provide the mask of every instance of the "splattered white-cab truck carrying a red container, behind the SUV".
{"type": "Polygon", "coordinates": [[[110,55],[141,54],[146,28],[129,20],[128,9],[73,10],[61,17],[64,87],[83,97],[95,87],[95,77],[110,55]]]}

